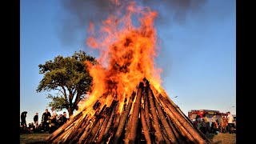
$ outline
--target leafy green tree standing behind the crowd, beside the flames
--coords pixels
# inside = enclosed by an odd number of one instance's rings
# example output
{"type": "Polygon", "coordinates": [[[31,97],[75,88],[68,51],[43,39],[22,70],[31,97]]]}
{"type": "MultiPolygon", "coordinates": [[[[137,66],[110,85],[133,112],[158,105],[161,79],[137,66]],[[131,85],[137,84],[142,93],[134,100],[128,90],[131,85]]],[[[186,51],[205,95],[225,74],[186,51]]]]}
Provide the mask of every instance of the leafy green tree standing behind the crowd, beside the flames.
{"type": "Polygon", "coordinates": [[[80,50],[71,57],[58,55],[54,61],[39,65],[39,74],[44,74],[39,82],[37,92],[57,91],[56,95],[48,94],[52,102],[48,105],[54,110],[68,110],[72,115],[80,102],[90,91],[92,77],[87,69],[86,61],[95,65],[96,59],[80,50]]]}

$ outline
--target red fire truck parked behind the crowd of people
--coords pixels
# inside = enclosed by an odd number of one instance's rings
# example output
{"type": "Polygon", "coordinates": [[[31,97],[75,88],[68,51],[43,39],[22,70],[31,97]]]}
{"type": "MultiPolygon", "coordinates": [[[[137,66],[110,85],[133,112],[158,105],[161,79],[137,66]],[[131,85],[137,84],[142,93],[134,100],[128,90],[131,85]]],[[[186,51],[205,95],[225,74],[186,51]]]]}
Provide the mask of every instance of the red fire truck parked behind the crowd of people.
{"type": "Polygon", "coordinates": [[[222,116],[227,116],[226,113],[221,113],[219,110],[190,110],[188,112],[188,118],[190,118],[190,120],[194,122],[197,115],[199,115],[200,118],[202,118],[204,114],[206,114],[207,118],[212,118],[214,114],[216,114],[218,122],[220,122],[222,116]]]}

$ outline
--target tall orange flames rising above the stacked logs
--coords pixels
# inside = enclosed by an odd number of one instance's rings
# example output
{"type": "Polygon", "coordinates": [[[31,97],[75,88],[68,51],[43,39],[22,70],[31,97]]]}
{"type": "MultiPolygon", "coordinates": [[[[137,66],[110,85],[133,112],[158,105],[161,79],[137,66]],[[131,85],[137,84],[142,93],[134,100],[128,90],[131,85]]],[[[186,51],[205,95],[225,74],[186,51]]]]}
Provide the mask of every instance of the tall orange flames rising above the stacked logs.
{"type": "MultiPolygon", "coordinates": [[[[156,89],[161,85],[160,72],[156,69],[154,58],[157,56],[157,35],[154,28],[156,11],[149,7],[138,6],[130,2],[121,6],[118,0],[112,0],[119,7],[116,14],[111,14],[98,31],[94,31],[94,23],[90,22],[86,44],[100,51],[100,65],[91,66],[93,90],[90,98],[82,105],[93,105],[94,102],[112,102],[107,97],[123,103],[139,82],[146,78],[156,89]],[[124,14],[122,14],[124,12],[124,14]],[[108,100],[107,100],[108,99],[108,100]]],[[[118,112],[122,112],[122,104],[118,112]]]]}

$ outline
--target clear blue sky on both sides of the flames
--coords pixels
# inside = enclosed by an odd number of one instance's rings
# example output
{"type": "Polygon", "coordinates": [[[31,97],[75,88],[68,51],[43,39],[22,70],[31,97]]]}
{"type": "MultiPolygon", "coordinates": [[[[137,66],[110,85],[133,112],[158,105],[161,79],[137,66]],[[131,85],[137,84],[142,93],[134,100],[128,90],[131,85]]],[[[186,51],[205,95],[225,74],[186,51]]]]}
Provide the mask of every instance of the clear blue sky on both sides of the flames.
{"type": "MultiPolygon", "coordinates": [[[[44,110],[50,110],[47,92],[36,92],[43,77],[39,64],[78,50],[98,56],[86,47],[85,39],[88,15],[101,14],[100,9],[75,11],[83,18],[78,22],[72,16],[76,9],[60,2],[21,1],[20,113],[28,112],[27,123],[36,112],[41,122],[44,110]]],[[[197,109],[236,114],[235,1],[194,2],[185,8],[167,1],[149,3],[159,12],[155,23],[161,50],[156,62],[163,70],[162,86],[170,98],[178,96],[173,101],[185,114],[197,109]]]]}

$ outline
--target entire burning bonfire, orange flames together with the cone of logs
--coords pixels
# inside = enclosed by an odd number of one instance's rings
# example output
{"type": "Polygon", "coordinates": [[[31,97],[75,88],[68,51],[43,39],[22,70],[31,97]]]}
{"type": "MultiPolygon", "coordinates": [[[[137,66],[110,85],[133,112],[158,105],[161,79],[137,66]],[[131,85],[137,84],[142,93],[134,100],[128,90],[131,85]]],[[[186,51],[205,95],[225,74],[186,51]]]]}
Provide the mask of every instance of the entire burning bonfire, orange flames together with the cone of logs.
{"type": "Polygon", "coordinates": [[[101,52],[98,65],[85,62],[93,77],[90,97],[46,142],[209,142],[162,89],[162,70],[154,63],[158,13],[135,2],[112,2],[115,14],[98,27],[90,22],[87,46],[101,52]]]}

